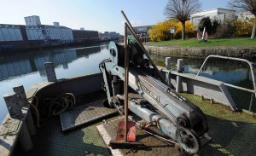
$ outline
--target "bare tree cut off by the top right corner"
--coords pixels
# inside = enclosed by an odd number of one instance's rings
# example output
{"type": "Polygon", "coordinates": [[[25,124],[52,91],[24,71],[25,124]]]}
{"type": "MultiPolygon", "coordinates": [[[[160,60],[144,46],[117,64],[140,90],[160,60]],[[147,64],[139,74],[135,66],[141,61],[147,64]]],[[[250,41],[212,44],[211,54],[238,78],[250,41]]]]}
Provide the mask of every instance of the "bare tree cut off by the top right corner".
{"type": "Polygon", "coordinates": [[[251,12],[254,15],[255,20],[251,36],[251,39],[254,39],[256,33],[256,0],[231,0],[229,5],[237,9],[246,9],[248,12],[251,12]]]}

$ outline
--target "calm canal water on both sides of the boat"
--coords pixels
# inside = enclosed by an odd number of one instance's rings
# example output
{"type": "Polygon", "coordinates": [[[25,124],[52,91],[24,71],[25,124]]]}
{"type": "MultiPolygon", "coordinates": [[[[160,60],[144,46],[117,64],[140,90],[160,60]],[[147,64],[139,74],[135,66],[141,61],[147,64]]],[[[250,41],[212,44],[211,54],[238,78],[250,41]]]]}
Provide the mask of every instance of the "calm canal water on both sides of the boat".
{"type": "MultiPolygon", "coordinates": [[[[165,58],[152,55],[157,65],[165,66],[165,58]]],[[[13,92],[12,87],[23,84],[28,90],[32,84],[47,81],[44,71],[44,62],[53,61],[57,78],[68,78],[92,72],[100,72],[99,63],[108,58],[108,43],[101,45],[72,48],[51,49],[24,54],[1,54],[0,56],[0,123],[7,114],[3,95],[13,92]]],[[[172,57],[172,67],[175,70],[176,57],[172,57]]],[[[198,72],[203,60],[183,58],[185,72],[198,72]]],[[[202,76],[236,84],[253,89],[251,73],[247,65],[234,61],[209,61],[202,76]]],[[[230,89],[232,97],[238,107],[256,112],[255,97],[244,91],[230,89]],[[239,96],[238,96],[239,95],[239,96]],[[253,102],[251,102],[253,99],[253,102]]]]}

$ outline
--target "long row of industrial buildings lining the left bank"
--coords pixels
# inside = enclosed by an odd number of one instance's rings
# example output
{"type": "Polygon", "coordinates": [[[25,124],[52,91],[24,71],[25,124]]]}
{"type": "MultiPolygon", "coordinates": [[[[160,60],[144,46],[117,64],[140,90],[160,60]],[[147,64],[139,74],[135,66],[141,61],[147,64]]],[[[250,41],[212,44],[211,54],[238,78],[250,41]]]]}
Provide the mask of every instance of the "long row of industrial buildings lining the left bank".
{"type": "Polygon", "coordinates": [[[24,17],[24,20],[25,26],[0,24],[0,51],[120,38],[117,32],[99,34],[97,31],[84,30],[84,28],[72,30],[66,26],[60,26],[59,22],[53,22],[53,25],[42,25],[38,15],[24,17]]]}

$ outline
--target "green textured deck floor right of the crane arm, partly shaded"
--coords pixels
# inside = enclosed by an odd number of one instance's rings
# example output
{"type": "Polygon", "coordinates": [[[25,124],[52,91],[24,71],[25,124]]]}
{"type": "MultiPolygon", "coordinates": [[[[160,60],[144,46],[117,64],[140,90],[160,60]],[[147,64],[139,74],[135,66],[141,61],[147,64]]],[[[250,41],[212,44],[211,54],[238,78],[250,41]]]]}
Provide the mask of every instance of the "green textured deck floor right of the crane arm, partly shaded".
{"type": "Polygon", "coordinates": [[[224,105],[211,104],[200,96],[182,94],[207,115],[212,142],[199,155],[255,155],[256,118],[247,113],[233,113],[224,105]]]}

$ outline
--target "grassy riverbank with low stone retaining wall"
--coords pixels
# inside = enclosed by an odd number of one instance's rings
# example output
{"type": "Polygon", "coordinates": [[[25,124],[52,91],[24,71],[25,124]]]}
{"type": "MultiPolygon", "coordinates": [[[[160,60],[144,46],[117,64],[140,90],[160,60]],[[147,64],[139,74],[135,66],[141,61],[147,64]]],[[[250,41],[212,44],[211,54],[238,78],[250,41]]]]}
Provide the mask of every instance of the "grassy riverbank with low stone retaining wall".
{"type": "Polygon", "coordinates": [[[210,38],[199,43],[197,38],[144,43],[150,54],[162,56],[200,57],[224,55],[230,57],[256,58],[256,40],[248,38],[210,38]]]}

